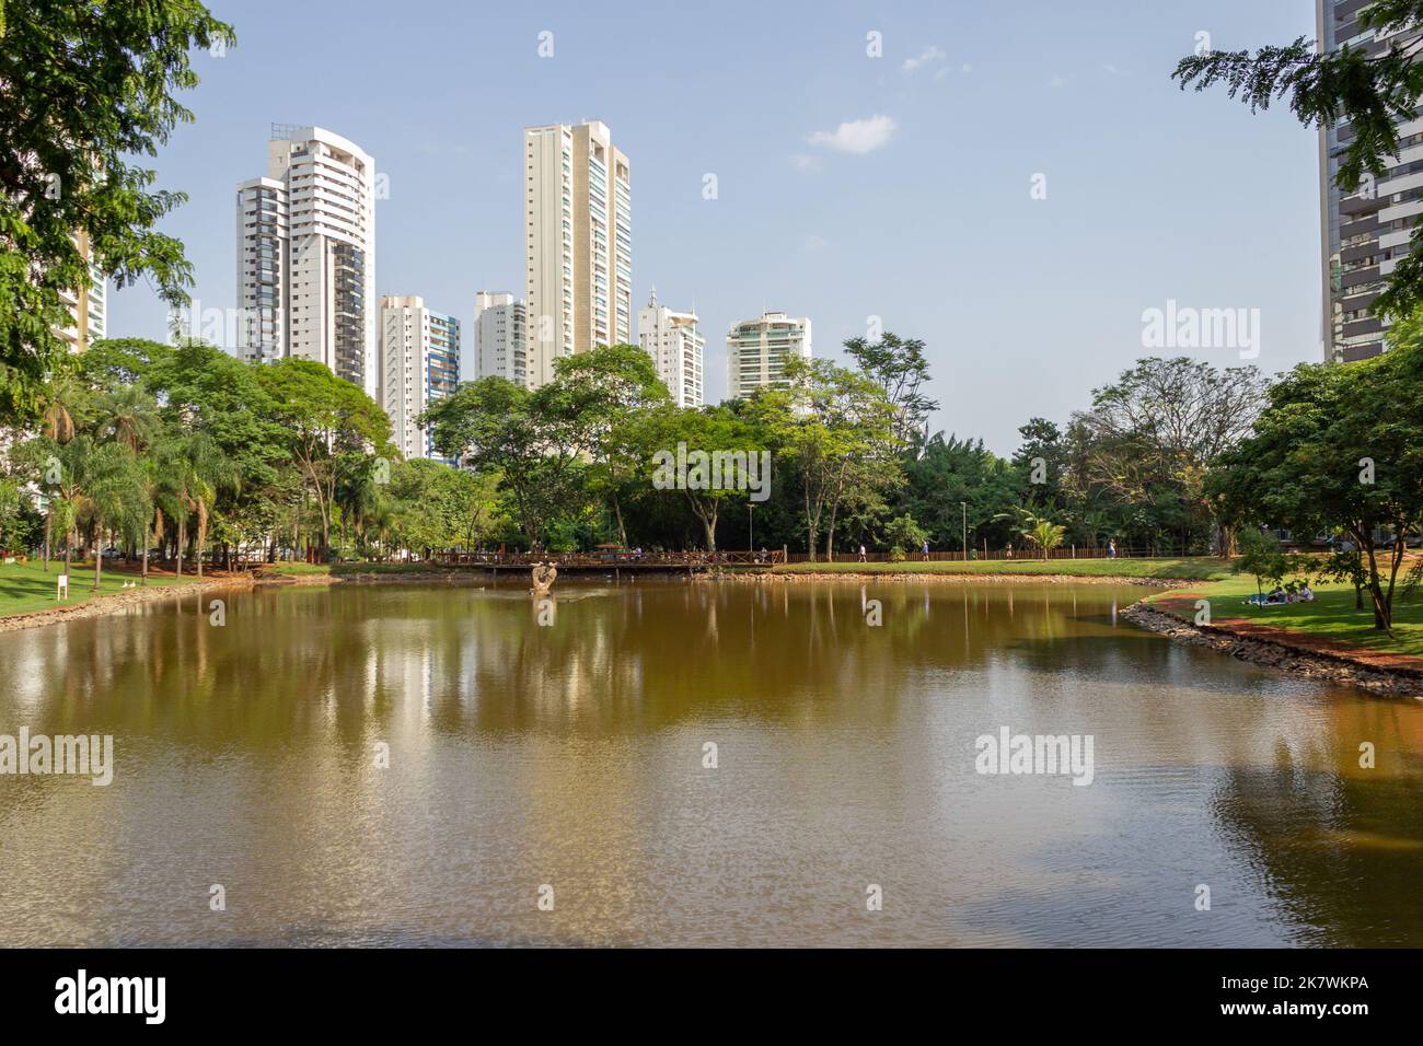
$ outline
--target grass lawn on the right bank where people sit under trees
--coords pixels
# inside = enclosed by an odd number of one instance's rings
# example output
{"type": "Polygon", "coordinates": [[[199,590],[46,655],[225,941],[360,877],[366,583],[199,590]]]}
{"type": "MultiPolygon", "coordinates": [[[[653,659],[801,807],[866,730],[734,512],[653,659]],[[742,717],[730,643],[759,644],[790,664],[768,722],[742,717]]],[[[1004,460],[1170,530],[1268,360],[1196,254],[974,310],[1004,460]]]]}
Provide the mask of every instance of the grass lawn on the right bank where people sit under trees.
{"type": "MultiPolygon", "coordinates": [[[[1399,572],[1402,576],[1402,571],[1399,572]]],[[[1407,653],[1423,657],[1423,599],[1405,603],[1402,591],[1393,593],[1393,635],[1377,632],[1373,628],[1373,603],[1369,593],[1363,595],[1363,609],[1353,608],[1353,586],[1339,582],[1319,582],[1312,586],[1315,601],[1312,603],[1285,603],[1284,606],[1248,606],[1245,601],[1255,595],[1255,576],[1249,574],[1232,575],[1227,581],[1212,585],[1201,585],[1194,589],[1178,592],[1161,592],[1153,595],[1151,602],[1180,599],[1191,593],[1190,603],[1164,606],[1173,613],[1188,620],[1195,618],[1195,599],[1211,601],[1212,620],[1225,618],[1245,618],[1259,625],[1275,625],[1282,629],[1308,632],[1309,635],[1335,639],[1352,646],[1369,650],[1385,650],[1387,653],[1407,653]]],[[[1402,585],[1400,585],[1402,589],[1402,585]]]]}

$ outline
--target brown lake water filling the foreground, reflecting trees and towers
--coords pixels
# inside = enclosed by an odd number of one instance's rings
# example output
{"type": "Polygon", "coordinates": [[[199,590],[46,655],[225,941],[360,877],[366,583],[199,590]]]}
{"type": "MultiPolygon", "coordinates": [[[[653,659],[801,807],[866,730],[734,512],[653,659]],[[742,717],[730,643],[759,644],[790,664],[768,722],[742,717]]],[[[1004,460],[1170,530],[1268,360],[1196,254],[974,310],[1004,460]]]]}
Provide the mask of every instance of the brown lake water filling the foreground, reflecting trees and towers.
{"type": "Polygon", "coordinates": [[[1423,703],[1141,595],[265,588],[0,635],[0,734],[114,739],[108,787],[0,776],[0,945],[1423,945],[1423,703]],[[1090,736],[1091,783],[978,773],[1003,727],[1090,736]]]}

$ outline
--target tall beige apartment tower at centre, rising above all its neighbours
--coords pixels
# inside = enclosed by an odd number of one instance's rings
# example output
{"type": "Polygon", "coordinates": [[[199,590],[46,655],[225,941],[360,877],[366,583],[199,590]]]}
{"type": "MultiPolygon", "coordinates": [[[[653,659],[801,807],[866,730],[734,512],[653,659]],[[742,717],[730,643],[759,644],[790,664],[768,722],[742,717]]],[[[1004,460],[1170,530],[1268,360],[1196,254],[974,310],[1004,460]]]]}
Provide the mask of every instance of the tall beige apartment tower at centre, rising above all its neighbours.
{"type": "Polygon", "coordinates": [[[632,342],[632,168],[606,124],[524,131],[531,386],[554,361],[632,342]]]}

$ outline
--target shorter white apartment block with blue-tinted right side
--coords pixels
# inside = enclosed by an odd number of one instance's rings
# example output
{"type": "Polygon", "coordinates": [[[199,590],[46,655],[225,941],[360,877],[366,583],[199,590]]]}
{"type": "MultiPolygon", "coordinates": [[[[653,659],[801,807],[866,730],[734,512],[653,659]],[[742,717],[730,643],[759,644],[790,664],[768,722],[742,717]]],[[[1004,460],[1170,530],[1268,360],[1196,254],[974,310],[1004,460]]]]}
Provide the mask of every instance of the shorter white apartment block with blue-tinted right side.
{"type": "Polygon", "coordinates": [[[460,386],[460,320],[425,307],[423,297],[380,299],[380,397],[400,454],[455,464],[435,453],[416,424],[430,404],[460,386]]]}

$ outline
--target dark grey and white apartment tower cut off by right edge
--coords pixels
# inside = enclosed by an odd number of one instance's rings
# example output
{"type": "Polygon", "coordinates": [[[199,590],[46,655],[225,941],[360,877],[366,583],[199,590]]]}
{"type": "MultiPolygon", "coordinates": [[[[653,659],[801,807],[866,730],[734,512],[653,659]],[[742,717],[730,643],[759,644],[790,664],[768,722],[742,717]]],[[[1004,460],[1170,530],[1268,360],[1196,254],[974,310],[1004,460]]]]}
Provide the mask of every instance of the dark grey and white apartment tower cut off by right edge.
{"type": "MultiPolygon", "coordinates": [[[[1316,0],[1321,51],[1343,46],[1369,57],[1390,44],[1417,40],[1417,28],[1375,36],[1362,28],[1359,13],[1370,0],[1316,0]]],[[[1409,250],[1409,236],[1423,212],[1423,120],[1399,124],[1400,151],[1382,178],[1365,175],[1356,192],[1335,185],[1353,128],[1339,124],[1319,131],[1321,232],[1323,243],[1323,356],[1352,361],[1383,352],[1385,324],[1369,316],[1386,278],[1409,250]]]]}

